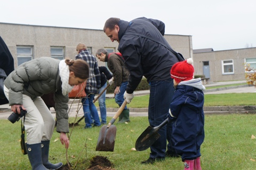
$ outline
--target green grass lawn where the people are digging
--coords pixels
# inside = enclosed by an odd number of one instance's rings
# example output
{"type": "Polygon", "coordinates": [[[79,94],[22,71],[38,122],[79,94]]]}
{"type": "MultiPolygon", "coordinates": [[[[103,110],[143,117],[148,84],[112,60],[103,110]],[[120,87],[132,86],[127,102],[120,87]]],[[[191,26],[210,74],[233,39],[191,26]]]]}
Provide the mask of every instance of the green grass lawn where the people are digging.
{"type": "MultiPolygon", "coordinates": [[[[255,119],[256,115],[205,116],[205,140],[201,147],[202,168],[255,169],[256,139],[251,139],[252,135],[256,136],[255,119]]],[[[70,119],[69,122],[73,120],[70,119]]],[[[110,117],[108,122],[109,120],[110,117]]],[[[8,120],[0,120],[0,123],[0,169],[29,169],[28,157],[22,155],[20,148],[20,122],[12,124],[8,120]]],[[[106,156],[115,165],[115,169],[183,169],[180,158],[166,158],[153,165],[140,164],[149,157],[150,150],[133,151],[131,148],[135,147],[138,136],[148,127],[147,117],[131,117],[131,123],[115,125],[117,134],[114,152],[95,151],[99,127],[83,129],[84,122],[75,126],[67,153],[69,163],[74,165],[82,151],[76,169],[86,169],[93,156],[106,156]]],[[[66,149],[58,137],[59,133],[54,131],[50,144],[50,161],[62,161],[66,164],[66,149]]]]}

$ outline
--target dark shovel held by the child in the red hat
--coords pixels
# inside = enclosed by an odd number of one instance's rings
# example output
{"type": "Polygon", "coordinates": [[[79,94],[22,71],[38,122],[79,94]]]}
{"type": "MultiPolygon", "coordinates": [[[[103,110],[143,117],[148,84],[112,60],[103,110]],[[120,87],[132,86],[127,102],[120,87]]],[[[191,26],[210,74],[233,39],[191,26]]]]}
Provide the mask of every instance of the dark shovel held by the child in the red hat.
{"type": "Polygon", "coordinates": [[[158,130],[168,123],[168,118],[163,123],[156,127],[148,126],[146,130],[138,137],[135,143],[135,149],[137,151],[143,151],[148,149],[156,140],[160,137],[158,130]]]}

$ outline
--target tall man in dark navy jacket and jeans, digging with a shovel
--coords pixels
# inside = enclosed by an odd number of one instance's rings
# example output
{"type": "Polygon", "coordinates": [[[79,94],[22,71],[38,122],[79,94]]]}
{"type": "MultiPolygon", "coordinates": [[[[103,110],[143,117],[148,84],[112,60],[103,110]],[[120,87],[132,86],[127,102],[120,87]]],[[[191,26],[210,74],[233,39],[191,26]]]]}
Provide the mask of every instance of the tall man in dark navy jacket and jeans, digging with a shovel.
{"type": "MultiPolygon", "coordinates": [[[[171,46],[163,37],[165,25],[162,21],[137,18],[130,22],[119,18],[109,18],[103,28],[112,42],[119,43],[118,51],[122,53],[125,65],[130,71],[124,98],[130,103],[133,91],[143,76],[150,84],[148,119],[151,127],[158,126],[166,119],[166,113],[174,92],[170,70],[178,62],[171,46]]],[[[163,160],[165,156],[176,156],[171,144],[171,125],[159,129],[159,139],[150,147],[149,159],[142,164],[152,164],[163,160]],[[166,151],[166,139],[169,141],[166,151]]]]}

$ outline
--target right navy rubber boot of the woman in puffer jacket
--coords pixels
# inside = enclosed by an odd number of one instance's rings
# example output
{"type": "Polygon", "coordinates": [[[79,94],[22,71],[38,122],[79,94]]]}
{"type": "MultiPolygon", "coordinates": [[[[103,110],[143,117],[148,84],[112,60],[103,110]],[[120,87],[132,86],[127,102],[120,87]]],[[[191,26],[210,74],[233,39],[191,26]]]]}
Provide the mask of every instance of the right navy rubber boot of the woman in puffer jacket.
{"type": "Polygon", "coordinates": [[[50,141],[42,141],[41,148],[42,148],[43,165],[47,169],[58,169],[63,164],[62,163],[52,164],[49,162],[49,147],[50,147],[50,141]]]}

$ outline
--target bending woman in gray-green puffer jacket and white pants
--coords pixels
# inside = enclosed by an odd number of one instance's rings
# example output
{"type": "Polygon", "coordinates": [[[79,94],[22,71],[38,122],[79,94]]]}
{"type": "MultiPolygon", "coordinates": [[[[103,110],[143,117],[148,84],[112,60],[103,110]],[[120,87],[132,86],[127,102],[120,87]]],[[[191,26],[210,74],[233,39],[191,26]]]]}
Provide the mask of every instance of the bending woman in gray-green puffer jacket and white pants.
{"type": "Polygon", "coordinates": [[[33,169],[58,169],[62,166],[62,163],[48,161],[55,120],[40,96],[54,93],[57,132],[61,143],[68,148],[68,93],[87,78],[89,65],[84,60],[42,57],[21,64],[5,79],[4,93],[11,110],[18,114],[21,109],[27,111],[24,124],[26,145],[33,169]]]}

